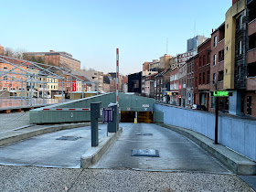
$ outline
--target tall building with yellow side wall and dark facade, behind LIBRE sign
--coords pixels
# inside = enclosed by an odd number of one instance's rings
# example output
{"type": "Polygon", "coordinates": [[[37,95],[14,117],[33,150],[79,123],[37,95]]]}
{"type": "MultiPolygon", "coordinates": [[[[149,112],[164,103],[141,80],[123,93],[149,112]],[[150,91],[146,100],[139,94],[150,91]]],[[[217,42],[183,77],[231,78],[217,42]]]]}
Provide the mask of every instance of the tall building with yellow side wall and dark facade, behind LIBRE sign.
{"type": "Polygon", "coordinates": [[[225,17],[224,84],[232,91],[229,97],[229,113],[240,114],[244,109],[246,89],[246,0],[233,0],[225,17]]]}

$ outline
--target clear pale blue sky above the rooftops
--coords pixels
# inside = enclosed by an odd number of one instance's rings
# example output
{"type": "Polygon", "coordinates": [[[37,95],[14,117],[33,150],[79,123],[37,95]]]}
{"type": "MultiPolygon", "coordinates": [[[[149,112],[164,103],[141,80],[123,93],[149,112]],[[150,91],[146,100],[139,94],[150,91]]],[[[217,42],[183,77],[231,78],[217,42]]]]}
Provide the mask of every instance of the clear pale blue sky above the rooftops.
{"type": "Polygon", "coordinates": [[[210,37],[232,0],[0,0],[0,44],[25,51],[66,51],[81,69],[141,71],[144,61],[187,50],[210,37]]]}

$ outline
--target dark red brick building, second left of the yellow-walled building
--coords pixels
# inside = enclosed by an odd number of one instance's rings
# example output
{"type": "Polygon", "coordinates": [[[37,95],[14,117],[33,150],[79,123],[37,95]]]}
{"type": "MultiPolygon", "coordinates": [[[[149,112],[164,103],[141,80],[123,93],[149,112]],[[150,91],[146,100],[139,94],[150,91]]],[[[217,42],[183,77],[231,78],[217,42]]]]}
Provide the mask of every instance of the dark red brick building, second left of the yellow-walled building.
{"type": "Polygon", "coordinates": [[[194,61],[194,100],[195,104],[201,105],[204,110],[208,110],[209,100],[210,45],[210,38],[199,45],[194,61]]]}

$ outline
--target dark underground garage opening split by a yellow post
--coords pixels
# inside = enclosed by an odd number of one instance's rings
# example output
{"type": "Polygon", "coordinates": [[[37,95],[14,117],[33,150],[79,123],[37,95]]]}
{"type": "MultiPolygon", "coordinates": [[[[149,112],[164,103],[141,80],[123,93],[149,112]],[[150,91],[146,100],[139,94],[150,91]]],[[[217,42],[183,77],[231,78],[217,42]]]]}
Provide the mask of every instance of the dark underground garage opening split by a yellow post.
{"type": "MultiPolygon", "coordinates": [[[[134,123],[135,112],[121,112],[122,123],[134,123]]],[[[138,112],[138,123],[153,123],[154,112],[138,112]]]]}

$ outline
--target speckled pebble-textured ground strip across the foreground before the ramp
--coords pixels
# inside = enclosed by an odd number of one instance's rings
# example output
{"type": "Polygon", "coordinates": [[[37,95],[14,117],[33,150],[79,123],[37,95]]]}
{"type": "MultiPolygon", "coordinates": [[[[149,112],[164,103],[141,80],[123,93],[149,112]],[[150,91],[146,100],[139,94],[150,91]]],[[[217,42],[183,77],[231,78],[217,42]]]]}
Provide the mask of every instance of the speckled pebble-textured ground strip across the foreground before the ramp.
{"type": "Polygon", "coordinates": [[[251,191],[235,175],[0,166],[1,191],[251,191]]]}

